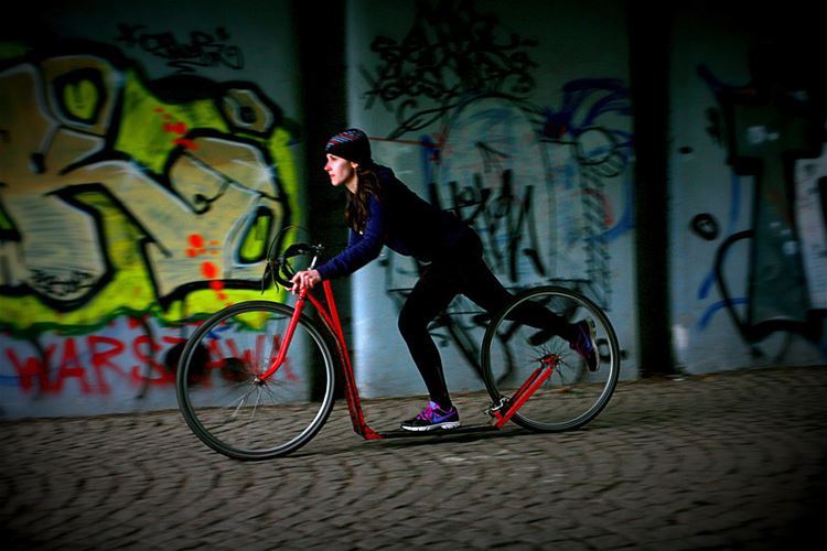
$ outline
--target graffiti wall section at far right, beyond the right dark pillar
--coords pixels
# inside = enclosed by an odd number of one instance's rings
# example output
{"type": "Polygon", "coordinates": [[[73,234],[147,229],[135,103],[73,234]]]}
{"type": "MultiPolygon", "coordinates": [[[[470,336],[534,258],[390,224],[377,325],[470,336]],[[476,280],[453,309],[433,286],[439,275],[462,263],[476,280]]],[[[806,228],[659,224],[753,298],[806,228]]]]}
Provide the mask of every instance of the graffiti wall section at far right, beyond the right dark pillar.
{"type": "Polygon", "coordinates": [[[823,364],[823,47],[801,12],[676,17],[675,350],[690,372],[823,364]]]}

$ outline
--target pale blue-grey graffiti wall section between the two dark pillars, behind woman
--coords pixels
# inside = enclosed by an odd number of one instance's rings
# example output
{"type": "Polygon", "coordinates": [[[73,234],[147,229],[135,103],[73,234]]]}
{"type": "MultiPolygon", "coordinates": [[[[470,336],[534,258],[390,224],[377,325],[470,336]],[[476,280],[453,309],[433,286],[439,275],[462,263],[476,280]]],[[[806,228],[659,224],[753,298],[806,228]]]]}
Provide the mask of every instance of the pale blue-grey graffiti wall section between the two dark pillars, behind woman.
{"type": "MultiPolygon", "coordinates": [[[[501,281],[586,292],[636,376],[627,40],[619,2],[351,2],[350,112],[374,158],[459,214],[501,281]],[[367,4],[370,10],[367,10],[367,4]]],[[[390,251],[353,278],[357,378],[425,393],[396,318],[421,270],[390,251]],[[382,343],[382,344],[379,344],[382,343]]],[[[457,299],[431,326],[451,390],[481,387],[486,318],[457,299]]]]}

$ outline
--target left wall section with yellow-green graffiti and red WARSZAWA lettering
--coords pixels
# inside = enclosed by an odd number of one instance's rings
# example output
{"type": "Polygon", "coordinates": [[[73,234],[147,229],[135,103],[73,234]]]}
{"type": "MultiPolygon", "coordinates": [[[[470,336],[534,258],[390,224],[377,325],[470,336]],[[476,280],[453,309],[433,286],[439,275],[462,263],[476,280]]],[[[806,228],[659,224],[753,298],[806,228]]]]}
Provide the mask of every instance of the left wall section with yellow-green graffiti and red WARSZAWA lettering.
{"type": "Polygon", "coordinates": [[[0,44],[4,415],[174,407],[181,343],[307,216],[284,6],[87,8],[0,44]]]}

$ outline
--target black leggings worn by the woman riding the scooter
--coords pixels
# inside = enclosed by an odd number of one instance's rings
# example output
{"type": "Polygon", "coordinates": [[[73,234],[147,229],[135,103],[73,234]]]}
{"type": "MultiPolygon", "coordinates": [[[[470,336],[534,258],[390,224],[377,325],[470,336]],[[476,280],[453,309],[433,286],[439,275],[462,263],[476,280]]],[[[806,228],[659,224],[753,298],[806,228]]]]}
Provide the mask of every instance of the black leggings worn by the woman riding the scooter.
{"type": "MultiPolygon", "coordinates": [[[[514,298],[491,272],[482,253],[480,237],[474,231],[466,231],[448,253],[426,267],[399,313],[399,332],[425,380],[431,401],[442,408],[451,407],[451,398],[442,371],[442,359],[428,333],[428,324],[458,294],[464,294],[492,315],[514,298]]],[[[569,334],[568,322],[545,307],[522,309],[514,317],[556,335],[569,334]]]]}

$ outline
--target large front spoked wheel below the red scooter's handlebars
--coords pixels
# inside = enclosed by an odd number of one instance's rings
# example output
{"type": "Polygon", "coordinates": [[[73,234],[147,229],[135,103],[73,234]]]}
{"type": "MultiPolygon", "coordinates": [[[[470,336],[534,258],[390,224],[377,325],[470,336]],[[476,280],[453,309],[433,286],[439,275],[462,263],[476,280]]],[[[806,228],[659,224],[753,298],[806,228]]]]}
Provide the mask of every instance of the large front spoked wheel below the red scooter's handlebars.
{"type": "Polygon", "coordinates": [[[211,316],[190,337],[175,389],[190,429],[237,460],[267,460],[307,444],[333,407],[334,356],[326,333],[299,318],[281,367],[277,357],[294,310],[249,301],[211,316]]]}

